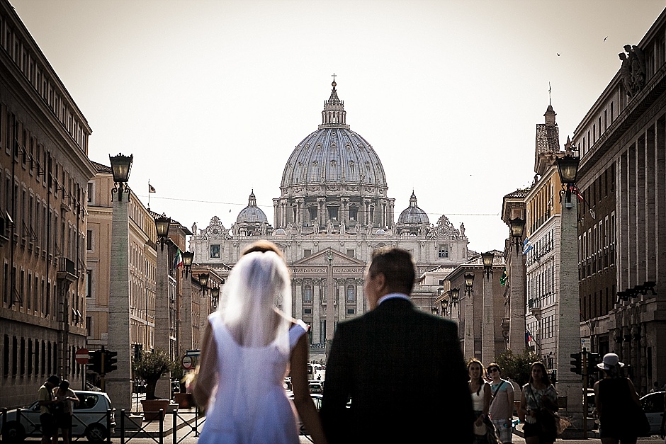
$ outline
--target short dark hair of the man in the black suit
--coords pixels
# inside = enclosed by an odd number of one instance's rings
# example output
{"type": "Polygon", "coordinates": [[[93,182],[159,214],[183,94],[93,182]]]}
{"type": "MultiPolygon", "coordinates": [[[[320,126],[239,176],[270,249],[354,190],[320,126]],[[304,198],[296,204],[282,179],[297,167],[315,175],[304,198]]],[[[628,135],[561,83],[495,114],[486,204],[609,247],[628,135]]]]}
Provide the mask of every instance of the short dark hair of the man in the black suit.
{"type": "Polygon", "coordinates": [[[384,275],[386,286],[391,291],[410,295],[414,288],[414,261],[409,251],[384,246],[372,253],[368,274],[374,278],[378,273],[384,275]]]}

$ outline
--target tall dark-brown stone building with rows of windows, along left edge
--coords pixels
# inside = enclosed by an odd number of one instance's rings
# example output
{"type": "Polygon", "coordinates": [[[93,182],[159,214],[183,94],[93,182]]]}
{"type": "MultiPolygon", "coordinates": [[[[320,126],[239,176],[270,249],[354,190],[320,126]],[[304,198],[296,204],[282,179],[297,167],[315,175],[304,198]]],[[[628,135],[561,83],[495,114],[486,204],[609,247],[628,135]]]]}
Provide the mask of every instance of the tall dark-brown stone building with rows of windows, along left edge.
{"type": "Polygon", "coordinates": [[[0,405],[48,375],[81,387],[91,129],[9,1],[0,1],[0,405]]]}

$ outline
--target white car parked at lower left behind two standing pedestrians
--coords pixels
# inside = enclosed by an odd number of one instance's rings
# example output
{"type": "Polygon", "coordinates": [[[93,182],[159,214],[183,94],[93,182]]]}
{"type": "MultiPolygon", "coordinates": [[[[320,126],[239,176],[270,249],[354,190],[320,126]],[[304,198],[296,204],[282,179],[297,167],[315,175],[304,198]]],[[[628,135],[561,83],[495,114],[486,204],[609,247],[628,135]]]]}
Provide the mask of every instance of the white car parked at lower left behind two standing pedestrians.
{"type": "MultiPolygon", "coordinates": [[[[84,392],[74,390],[79,405],[74,406],[72,436],[85,436],[92,443],[101,443],[106,438],[107,410],[111,410],[111,433],[115,428],[115,409],[111,399],[104,392],[84,392]]],[[[6,423],[0,414],[0,431],[3,442],[21,443],[30,437],[42,436],[39,419],[40,408],[37,401],[22,409],[7,411],[6,423]]]]}

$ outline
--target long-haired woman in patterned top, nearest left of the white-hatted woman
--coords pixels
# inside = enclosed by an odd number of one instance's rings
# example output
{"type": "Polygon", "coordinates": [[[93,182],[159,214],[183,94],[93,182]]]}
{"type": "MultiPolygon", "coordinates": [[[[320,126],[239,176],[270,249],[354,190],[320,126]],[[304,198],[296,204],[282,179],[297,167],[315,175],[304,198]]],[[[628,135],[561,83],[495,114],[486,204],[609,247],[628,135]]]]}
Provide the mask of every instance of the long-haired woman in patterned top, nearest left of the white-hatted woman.
{"type": "Polygon", "coordinates": [[[524,415],[523,432],[526,444],[553,444],[557,438],[555,412],[558,392],[548,377],[546,366],[536,361],[530,366],[529,382],[523,386],[520,399],[524,415]]]}

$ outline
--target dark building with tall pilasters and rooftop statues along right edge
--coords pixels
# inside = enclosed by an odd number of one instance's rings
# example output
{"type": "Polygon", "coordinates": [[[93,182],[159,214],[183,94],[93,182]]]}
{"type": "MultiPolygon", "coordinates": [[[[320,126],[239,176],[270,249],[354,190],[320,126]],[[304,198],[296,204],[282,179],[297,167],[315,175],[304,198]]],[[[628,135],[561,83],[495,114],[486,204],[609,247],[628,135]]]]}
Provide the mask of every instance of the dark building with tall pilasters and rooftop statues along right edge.
{"type": "Polygon", "coordinates": [[[581,331],[631,365],[638,392],[666,372],[666,11],[620,51],[575,130],[581,331]]]}

